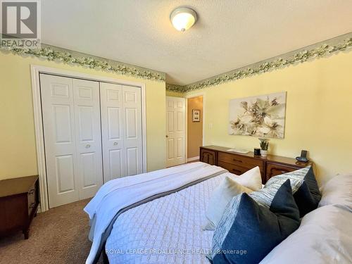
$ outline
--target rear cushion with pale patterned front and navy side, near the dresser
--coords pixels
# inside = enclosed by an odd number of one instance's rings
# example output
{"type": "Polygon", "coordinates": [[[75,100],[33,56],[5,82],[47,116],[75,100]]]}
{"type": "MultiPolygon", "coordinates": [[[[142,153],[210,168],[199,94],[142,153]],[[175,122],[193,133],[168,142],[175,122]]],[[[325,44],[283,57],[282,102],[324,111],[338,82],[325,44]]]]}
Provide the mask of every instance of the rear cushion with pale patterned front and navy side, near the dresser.
{"type": "Polygon", "coordinates": [[[291,181],[294,201],[296,201],[299,208],[301,218],[310,211],[318,208],[322,195],[320,194],[318,183],[315,180],[314,171],[311,166],[272,177],[265,184],[264,188],[279,186],[287,179],[291,181]]]}

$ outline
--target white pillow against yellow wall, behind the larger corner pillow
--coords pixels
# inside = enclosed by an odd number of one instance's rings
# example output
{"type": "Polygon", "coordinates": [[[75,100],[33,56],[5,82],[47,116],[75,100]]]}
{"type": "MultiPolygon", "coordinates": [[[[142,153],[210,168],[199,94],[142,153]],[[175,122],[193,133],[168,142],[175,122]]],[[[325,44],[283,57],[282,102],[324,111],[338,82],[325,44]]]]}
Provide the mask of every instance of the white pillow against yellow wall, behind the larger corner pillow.
{"type": "Polygon", "coordinates": [[[347,206],[352,211],[352,174],[333,177],[320,191],[322,199],[319,206],[339,204],[347,206]]]}

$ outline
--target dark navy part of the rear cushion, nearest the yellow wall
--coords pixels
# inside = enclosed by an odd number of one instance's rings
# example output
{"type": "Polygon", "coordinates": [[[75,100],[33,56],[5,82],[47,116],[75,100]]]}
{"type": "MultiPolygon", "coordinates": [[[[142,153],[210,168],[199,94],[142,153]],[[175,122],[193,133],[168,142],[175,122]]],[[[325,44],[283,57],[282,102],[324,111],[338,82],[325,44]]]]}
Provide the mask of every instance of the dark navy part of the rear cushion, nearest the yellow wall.
{"type": "Polygon", "coordinates": [[[303,218],[304,215],[318,208],[322,194],[320,194],[318,182],[315,180],[313,168],[310,167],[304,182],[301,187],[294,193],[294,201],[299,208],[299,215],[303,218]]]}

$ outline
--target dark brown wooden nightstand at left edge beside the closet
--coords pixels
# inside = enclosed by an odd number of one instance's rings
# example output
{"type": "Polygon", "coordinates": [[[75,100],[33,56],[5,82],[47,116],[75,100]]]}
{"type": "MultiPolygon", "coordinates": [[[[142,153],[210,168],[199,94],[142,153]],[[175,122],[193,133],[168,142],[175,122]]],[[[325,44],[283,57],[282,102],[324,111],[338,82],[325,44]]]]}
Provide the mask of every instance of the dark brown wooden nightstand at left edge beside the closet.
{"type": "Polygon", "coordinates": [[[22,230],[28,239],[39,204],[38,176],[0,181],[0,235],[22,230]]]}

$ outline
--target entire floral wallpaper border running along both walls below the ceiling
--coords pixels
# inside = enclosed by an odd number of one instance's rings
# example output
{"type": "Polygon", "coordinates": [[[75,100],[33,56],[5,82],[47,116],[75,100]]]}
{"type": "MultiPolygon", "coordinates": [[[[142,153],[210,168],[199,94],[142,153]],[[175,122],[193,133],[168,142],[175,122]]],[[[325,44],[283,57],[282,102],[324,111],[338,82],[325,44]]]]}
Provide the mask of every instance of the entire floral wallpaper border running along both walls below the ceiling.
{"type": "MultiPolygon", "coordinates": [[[[351,35],[351,34],[348,34],[351,35]]],[[[263,63],[254,63],[247,66],[247,68],[240,68],[233,70],[229,73],[223,73],[209,79],[195,82],[194,84],[187,84],[184,86],[166,83],[166,90],[171,92],[185,93],[197,89],[203,89],[206,87],[222,84],[224,82],[230,82],[239,80],[244,77],[251,77],[259,73],[266,73],[270,70],[276,70],[284,68],[289,65],[296,63],[303,63],[310,59],[321,58],[329,56],[330,54],[337,53],[339,51],[346,51],[352,47],[352,37],[345,39],[337,44],[321,44],[320,46],[312,49],[306,49],[298,51],[287,58],[279,58],[264,61],[263,63]]],[[[68,63],[73,65],[81,65],[87,68],[93,68],[96,70],[106,70],[110,72],[119,73],[121,75],[131,75],[134,77],[140,77],[148,80],[160,80],[165,82],[165,73],[161,73],[155,70],[149,70],[146,68],[140,68],[134,65],[127,65],[118,61],[106,60],[104,58],[89,56],[88,54],[81,54],[80,52],[68,51],[61,48],[44,45],[42,49],[23,49],[18,47],[12,48],[0,48],[3,52],[12,52],[13,54],[20,56],[35,56],[38,58],[44,58],[48,61],[56,61],[62,63],[68,63]],[[78,55],[76,55],[78,54],[78,55]]]]}

